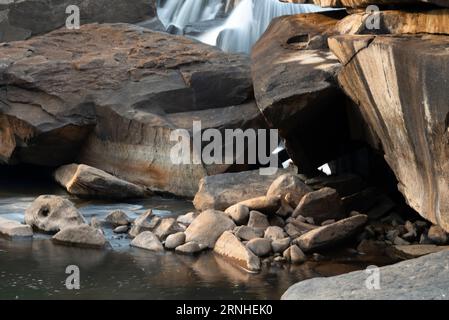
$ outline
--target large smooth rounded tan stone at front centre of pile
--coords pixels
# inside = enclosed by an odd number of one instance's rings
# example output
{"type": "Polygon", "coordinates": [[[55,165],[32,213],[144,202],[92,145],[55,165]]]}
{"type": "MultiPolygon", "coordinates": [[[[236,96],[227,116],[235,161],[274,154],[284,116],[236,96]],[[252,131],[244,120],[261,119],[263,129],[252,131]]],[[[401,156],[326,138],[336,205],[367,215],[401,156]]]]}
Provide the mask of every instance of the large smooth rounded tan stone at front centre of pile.
{"type": "Polygon", "coordinates": [[[235,223],[224,212],[206,210],[186,229],[186,242],[195,241],[200,245],[213,248],[223,232],[235,227],[235,223]]]}

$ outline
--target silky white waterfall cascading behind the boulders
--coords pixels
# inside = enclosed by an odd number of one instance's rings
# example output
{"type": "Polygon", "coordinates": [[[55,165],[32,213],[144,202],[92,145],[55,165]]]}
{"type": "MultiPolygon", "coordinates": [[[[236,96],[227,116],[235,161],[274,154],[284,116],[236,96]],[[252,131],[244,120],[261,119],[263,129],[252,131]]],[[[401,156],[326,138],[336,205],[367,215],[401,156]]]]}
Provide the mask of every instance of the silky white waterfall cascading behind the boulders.
{"type": "MultiPolygon", "coordinates": [[[[166,0],[159,8],[159,17],[166,27],[182,29],[189,23],[215,19],[227,4],[229,0],[166,0]]],[[[200,35],[198,40],[227,52],[249,53],[274,18],[322,10],[326,9],[312,4],[240,0],[221,26],[200,35]]]]}

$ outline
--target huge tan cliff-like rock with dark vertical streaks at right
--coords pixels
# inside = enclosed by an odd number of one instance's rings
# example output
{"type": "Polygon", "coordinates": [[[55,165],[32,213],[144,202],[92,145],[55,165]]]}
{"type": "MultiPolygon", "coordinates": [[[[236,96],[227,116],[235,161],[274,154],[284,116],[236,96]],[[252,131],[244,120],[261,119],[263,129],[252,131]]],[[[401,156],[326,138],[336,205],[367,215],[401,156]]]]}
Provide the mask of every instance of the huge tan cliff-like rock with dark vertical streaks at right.
{"type": "Polygon", "coordinates": [[[449,37],[347,35],[329,45],[408,204],[449,231],[449,37]]]}

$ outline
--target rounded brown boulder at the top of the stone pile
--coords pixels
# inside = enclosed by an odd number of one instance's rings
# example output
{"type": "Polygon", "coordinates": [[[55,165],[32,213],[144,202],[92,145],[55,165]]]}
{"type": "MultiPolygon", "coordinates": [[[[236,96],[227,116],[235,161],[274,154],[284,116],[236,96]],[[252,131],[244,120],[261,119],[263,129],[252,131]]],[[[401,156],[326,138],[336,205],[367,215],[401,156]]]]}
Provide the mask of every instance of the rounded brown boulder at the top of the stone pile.
{"type": "Polygon", "coordinates": [[[289,205],[296,208],[301,199],[312,189],[308,187],[301,179],[294,174],[283,174],[273,181],[267,191],[268,198],[279,197],[285,199],[290,194],[289,205]]]}

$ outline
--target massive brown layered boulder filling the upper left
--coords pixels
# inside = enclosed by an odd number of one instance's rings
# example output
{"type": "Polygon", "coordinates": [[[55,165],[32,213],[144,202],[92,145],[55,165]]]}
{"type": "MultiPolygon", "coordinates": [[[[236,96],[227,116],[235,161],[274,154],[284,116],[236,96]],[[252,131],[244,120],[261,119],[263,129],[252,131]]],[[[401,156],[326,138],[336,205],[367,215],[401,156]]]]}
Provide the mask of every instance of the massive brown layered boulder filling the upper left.
{"type": "Polygon", "coordinates": [[[220,133],[266,126],[251,102],[249,59],[184,37],[88,24],[4,45],[0,60],[6,163],[77,162],[193,197],[202,177],[233,167],[190,148],[194,120],[220,133]],[[172,154],[184,136],[187,160],[172,154]]]}

